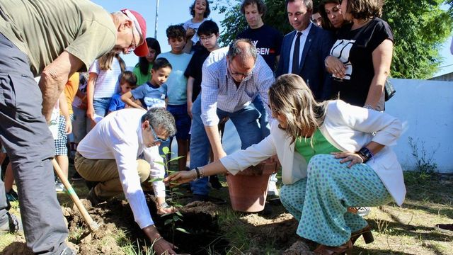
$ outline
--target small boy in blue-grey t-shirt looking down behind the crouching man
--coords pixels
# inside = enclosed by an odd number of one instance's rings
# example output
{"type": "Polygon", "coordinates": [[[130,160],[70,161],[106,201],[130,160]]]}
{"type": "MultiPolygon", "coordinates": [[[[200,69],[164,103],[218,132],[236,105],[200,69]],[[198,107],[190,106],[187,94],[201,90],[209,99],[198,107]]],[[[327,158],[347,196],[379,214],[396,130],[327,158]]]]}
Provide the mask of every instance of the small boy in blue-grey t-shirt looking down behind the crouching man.
{"type": "Polygon", "coordinates": [[[151,69],[151,79],[142,86],[137,87],[137,89],[123,94],[121,100],[134,108],[146,107],[145,110],[149,110],[152,107],[166,108],[166,90],[161,86],[167,81],[170,73],[170,62],[164,57],[157,59],[151,69]],[[144,107],[135,103],[134,100],[139,100],[144,107]]]}

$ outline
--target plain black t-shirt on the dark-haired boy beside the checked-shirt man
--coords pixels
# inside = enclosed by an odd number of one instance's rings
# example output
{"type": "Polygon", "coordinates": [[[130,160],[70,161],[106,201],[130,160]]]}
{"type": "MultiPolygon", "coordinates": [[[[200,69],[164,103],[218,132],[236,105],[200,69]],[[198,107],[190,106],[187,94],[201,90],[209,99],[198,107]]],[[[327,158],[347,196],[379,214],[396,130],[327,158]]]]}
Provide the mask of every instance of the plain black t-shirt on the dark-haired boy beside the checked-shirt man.
{"type": "Polygon", "coordinates": [[[207,56],[210,55],[211,52],[206,50],[205,47],[200,47],[193,53],[190,62],[185,69],[184,75],[185,77],[193,77],[195,79],[193,81],[193,92],[192,92],[192,102],[197,99],[198,94],[201,91],[201,78],[202,78],[202,66],[207,56]]]}

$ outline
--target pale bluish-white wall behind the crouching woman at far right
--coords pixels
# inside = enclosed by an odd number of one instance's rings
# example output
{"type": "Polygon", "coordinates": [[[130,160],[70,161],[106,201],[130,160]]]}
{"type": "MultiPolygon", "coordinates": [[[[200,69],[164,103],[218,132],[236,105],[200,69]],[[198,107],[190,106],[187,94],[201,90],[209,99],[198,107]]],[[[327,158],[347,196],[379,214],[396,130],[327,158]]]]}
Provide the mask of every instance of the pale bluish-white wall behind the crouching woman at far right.
{"type": "Polygon", "coordinates": [[[415,167],[409,137],[432,157],[440,172],[453,173],[453,81],[391,79],[396,94],[386,102],[386,113],[403,123],[403,134],[393,149],[403,169],[415,167]]]}

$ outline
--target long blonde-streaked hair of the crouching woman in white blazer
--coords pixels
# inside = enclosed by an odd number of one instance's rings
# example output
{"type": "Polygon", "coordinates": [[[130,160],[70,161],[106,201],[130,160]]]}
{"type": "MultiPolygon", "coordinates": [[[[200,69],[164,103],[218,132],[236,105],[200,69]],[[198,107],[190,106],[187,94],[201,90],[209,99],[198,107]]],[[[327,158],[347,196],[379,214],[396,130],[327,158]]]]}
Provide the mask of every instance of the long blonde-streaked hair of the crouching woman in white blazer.
{"type": "MultiPolygon", "coordinates": [[[[294,142],[299,137],[311,137],[326,117],[328,101],[316,102],[311,89],[297,74],[278,77],[269,89],[272,111],[287,119],[286,135],[294,142]]],[[[313,145],[312,145],[313,146],[313,145]]]]}

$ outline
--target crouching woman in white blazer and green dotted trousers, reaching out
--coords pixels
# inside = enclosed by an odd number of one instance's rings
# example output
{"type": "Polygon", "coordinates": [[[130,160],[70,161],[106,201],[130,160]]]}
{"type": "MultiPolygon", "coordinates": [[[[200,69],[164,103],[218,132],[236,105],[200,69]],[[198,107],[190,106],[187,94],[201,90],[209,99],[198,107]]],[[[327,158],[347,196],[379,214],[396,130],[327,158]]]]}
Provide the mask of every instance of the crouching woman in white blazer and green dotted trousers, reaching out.
{"type": "Polygon", "coordinates": [[[299,220],[297,234],[321,244],[316,254],[350,251],[355,239],[371,233],[367,222],[348,212],[349,207],[403,203],[403,171],[389,147],[401,134],[400,121],[340,100],[317,103],[294,74],[275,81],[269,101],[277,122],[263,141],[164,181],[185,183],[227,171],[236,174],[277,154],[284,184],[280,199],[299,220]]]}

